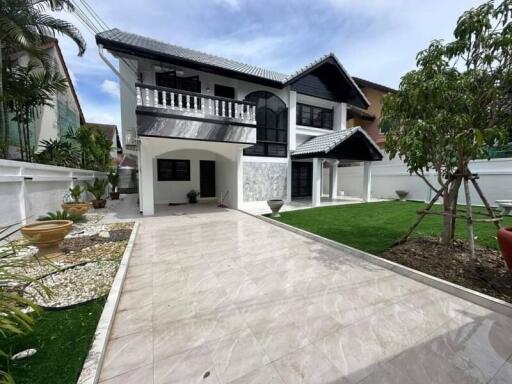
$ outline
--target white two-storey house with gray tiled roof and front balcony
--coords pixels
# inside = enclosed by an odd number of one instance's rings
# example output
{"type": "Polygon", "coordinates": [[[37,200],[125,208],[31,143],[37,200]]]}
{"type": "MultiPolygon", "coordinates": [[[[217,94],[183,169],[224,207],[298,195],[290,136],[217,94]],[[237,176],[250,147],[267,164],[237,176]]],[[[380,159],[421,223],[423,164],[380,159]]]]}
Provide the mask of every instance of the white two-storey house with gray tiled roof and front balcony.
{"type": "Polygon", "coordinates": [[[238,208],[311,196],[322,170],[337,195],[337,166],[364,161],[369,198],[378,146],[347,129],[347,106],[370,102],[335,55],[293,75],[113,29],[96,35],[119,59],[122,142],[138,154],[141,211],[181,203],[191,189],[238,208]]]}

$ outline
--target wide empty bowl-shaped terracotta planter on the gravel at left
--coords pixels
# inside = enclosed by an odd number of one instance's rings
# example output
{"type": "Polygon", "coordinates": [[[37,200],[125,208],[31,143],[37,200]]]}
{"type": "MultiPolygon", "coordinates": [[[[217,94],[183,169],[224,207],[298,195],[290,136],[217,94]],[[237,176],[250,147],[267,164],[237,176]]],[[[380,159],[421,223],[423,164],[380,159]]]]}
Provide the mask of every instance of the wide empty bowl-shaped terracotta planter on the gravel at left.
{"type": "Polygon", "coordinates": [[[23,236],[38,248],[60,243],[71,230],[71,220],[50,220],[28,224],[21,228],[23,236]]]}

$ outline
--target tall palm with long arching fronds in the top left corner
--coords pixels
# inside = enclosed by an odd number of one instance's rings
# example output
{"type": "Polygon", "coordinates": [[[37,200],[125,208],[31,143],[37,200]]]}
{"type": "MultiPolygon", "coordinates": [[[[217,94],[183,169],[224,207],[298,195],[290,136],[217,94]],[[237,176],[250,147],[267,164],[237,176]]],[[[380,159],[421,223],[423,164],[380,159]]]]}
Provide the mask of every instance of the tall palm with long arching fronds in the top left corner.
{"type": "MultiPolygon", "coordinates": [[[[12,52],[25,51],[45,63],[42,48],[50,39],[61,34],[71,38],[78,46],[78,55],[85,52],[85,40],[71,23],[48,15],[47,11],[74,11],[71,0],[0,0],[0,97],[4,94],[2,78],[4,61],[12,52]]],[[[7,154],[9,122],[5,104],[0,101],[0,145],[7,154]]]]}

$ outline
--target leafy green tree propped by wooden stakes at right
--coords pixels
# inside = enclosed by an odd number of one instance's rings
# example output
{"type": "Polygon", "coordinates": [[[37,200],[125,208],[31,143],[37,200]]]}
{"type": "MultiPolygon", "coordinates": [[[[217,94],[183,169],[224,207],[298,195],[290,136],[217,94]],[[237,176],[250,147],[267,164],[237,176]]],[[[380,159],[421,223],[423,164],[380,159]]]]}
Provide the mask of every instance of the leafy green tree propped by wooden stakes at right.
{"type": "MultiPolygon", "coordinates": [[[[512,0],[488,1],[457,21],[455,39],[433,41],[417,69],[384,98],[386,151],[442,196],[442,242],[453,240],[462,183],[475,181],[469,162],[505,144],[512,129],[512,0]],[[436,187],[425,172],[435,170],[436,187]]],[[[482,196],[483,197],[483,196],[482,196]]],[[[471,211],[468,205],[468,224],[471,211]]],[[[470,239],[473,240],[472,238],[470,239]]]]}

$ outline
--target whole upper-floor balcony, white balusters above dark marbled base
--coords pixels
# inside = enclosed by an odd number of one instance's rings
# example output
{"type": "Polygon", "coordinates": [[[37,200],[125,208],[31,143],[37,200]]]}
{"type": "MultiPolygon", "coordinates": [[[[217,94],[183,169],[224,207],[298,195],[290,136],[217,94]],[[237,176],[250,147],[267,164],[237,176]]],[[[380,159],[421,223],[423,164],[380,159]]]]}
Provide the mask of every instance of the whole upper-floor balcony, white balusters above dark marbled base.
{"type": "Polygon", "coordinates": [[[139,136],[256,143],[256,105],[179,89],[135,85],[139,136]]]}

